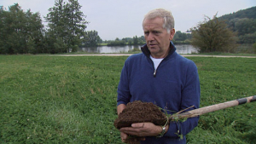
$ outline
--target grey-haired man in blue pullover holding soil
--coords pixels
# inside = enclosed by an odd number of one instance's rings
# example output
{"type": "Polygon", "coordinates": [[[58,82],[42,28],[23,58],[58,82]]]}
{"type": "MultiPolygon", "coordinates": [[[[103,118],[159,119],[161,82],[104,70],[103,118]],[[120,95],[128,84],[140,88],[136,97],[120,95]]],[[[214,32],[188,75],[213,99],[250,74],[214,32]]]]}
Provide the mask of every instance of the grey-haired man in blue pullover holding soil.
{"type": "MultiPolygon", "coordinates": [[[[192,60],[175,51],[172,13],[165,9],[150,11],[143,20],[143,31],[147,43],[142,47],[143,53],[131,55],[125,60],[120,75],[118,114],[132,101],[153,102],[169,114],[191,106],[198,108],[200,83],[197,68],[192,60]]],[[[166,125],[137,123],[119,131],[124,142],[129,135],[137,135],[139,138],[133,140],[141,143],[178,144],[186,143],[185,135],[197,123],[198,118],[166,125]]]]}

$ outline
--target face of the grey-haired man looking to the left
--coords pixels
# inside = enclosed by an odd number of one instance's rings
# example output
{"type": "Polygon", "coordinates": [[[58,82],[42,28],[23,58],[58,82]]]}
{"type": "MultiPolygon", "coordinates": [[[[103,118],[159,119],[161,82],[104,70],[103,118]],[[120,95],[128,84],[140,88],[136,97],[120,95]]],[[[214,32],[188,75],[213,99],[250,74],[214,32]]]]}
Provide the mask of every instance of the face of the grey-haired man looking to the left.
{"type": "Polygon", "coordinates": [[[145,19],[143,21],[144,36],[148,49],[154,58],[164,58],[168,55],[170,40],[172,40],[175,30],[170,33],[163,28],[164,20],[160,17],[145,19]]]}

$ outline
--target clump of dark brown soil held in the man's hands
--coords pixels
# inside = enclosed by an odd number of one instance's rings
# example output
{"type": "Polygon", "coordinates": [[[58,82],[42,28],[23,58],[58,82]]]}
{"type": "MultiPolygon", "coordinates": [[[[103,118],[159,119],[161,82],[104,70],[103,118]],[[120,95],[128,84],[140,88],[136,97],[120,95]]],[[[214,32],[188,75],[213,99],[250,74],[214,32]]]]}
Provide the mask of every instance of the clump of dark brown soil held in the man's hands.
{"type": "Polygon", "coordinates": [[[131,127],[134,123],[151,122],[155,125],[166,124],[166,115],[152,102],[133,101],[126,105],[119,118],[114,121],[117,129],[131,127]]]}

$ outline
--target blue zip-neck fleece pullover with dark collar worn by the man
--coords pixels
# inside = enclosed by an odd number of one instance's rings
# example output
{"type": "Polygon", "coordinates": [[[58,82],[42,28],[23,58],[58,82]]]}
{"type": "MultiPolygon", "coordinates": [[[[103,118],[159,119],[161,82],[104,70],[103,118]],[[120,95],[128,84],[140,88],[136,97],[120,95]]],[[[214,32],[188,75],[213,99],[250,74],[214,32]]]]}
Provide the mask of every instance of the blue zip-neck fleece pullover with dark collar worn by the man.
{"type": "MultiPolygon", "coordinates": [[[[172,42],[170,49],[156,70],[147,45],[142,47],[143,53],[125,60],[118,87],[118,105],[131,101],[153,102],[167,109],[169,114],[191,106],[194,107],[189,110],[199,108],[200,82],[195,63],[178,55],[172,42]]],[[[141,143],[186,143],[185,135],[197,126],[198,119],[172,122],[163,137],[146,137],[141,143]],[[183,139],[177,134],[183,135],[183,139]]]]}

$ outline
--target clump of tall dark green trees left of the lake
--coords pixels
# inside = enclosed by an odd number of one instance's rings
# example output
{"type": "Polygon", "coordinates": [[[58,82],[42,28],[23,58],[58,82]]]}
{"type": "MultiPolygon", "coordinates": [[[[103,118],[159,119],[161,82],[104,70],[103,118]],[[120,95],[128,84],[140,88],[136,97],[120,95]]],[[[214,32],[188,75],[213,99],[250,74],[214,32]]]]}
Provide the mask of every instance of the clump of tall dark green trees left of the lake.
{"type": "Polygon", "coordinates": [[[78,0],[55,0],[44,19],[39,13],[24,11],[18,3],[9,10],[0,7],[0,54],[56,54],[75,52],[91,41],[98,43],[96,31],[85,32],[86,16],[78,0]]]}

